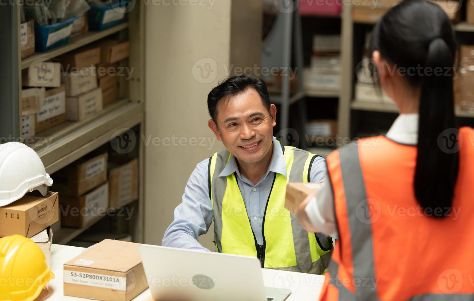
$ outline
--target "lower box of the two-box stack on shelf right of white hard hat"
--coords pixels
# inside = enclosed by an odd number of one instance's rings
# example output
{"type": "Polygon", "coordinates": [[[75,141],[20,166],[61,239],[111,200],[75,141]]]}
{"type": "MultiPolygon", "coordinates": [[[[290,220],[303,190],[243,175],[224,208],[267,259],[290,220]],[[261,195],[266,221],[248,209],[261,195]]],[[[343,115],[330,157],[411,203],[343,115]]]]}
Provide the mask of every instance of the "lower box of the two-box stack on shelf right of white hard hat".
{"type": "Polygon", "coordinates": [[[82,196],[61,195],[61,226],[84,228],[107,215],[109,185],[107,182],[82,196]]]}

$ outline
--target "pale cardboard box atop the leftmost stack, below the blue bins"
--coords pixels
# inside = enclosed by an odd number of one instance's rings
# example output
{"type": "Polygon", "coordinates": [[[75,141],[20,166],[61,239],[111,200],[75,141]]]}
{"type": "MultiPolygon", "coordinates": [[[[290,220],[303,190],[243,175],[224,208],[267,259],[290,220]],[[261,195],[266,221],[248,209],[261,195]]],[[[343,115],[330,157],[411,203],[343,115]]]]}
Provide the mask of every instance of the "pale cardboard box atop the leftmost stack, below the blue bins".
{"type": "Polygon", "coordinates": [[[22,71],[21,84],[27,87],[61,87],[61,64],[34,62],[22,71]]]}

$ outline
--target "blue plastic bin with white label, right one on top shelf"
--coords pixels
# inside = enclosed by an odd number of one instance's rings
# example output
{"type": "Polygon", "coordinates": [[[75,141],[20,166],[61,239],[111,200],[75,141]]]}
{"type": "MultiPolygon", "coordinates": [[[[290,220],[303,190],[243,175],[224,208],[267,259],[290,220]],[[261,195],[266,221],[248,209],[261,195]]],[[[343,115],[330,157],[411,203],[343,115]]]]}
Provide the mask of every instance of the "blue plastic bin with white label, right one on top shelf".
{"type": "Polygon", "coordinates": [[[91,7],[87,12],[89,30],[101,31],[123,23],[128,2],[128,0],[119,0],[118,3],[112,5],[91,7]]]}

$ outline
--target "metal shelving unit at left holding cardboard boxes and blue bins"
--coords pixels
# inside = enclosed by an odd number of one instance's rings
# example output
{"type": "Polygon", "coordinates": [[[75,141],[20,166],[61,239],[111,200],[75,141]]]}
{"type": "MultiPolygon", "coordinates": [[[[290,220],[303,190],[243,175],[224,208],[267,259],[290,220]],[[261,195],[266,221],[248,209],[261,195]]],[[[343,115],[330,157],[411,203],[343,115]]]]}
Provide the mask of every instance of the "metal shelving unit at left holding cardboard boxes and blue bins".
{"type": "MultiPolygon", "coordinates": [[[[69,40],[69,43],[45,53],[35,53],[21,60],[19,46],[19,27],[20,27],[20,7],[18,5],[9,6],[10,9],[4,9],[0,12],[0,20],[4,20],[9,26],[0,35],[0,41],[4,45],[11,45],[11,56],[0,59],[4,67],[4,74],[0,80],[2,95],[9,98],[2,99],[2,104],[6,111],[2,116],[9,116],[10,120],[2,123],[0,135],[4,137],[20,137],[21,129],[21,71],[27,69],[32,63],[45,62],[55,57],[78,49],[82,46],[99,41],[109,35],[116,34],[120,38],[128,38],[130,41],[130,55],[128,57],[128,66],[133,66],[133,74],[129,80],[120,78],[120,94],[125,97],[104,107],[96,114],[78,121],[65,122],[56,125],[43,132],[36,133],[35,137],[47,139],[37,139],[34,145],[30,145],[40,156],[45,165],[46,172],[52,174],[54,179],[55,171],[71,164],[84,155],[94,151],[100,146],[108,143],[112,134],[123,133],[128,129],[138,126],[138,135],[143,134],[144,129],[144,24],[145,14],[143,7],[137,2],[134,9],[128,12],[128,22],[124,22],[115,27],[103,31],[90,31],[76,38],[69,40]],[[10,28],[11,30],[8,30],[10,28]],[[133,33],[133,34],[132,34],[133,33]],[[8,62],[10,62],[8,64],[8,62]],[[13,62],[13,63],[11,63],[13,62]],[[7,93],[7,91],[10,91],[7,93]]],[[[2,21],[0,21],[2,22],[2,21]]],[[[7,25],[7,24],[5,24],[7,25]]],[[[138,210],[132,217],[133,223],[129,223],[129,234],[133,241],[143,242],[143,213],[144,213],[144,148],[141,140],[137,141],[138,147],[138,210]]],[[[115,210],[110,208],[109,212],[115,210]]],[[[100,218],[94,221],[99,221],[100,218]]],[[[54,235],[54,243],[66,244],[76,236],[87,230],[91,225],[85,228],[63,227],[57,230],[54,235]]]]}

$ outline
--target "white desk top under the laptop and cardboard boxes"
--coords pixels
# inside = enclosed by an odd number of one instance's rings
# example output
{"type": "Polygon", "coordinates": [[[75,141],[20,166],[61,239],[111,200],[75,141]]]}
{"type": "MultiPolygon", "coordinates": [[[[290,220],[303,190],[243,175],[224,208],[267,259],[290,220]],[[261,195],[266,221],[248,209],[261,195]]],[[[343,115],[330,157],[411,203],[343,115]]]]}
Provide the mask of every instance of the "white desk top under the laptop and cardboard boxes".
{"type": "MultiPolygon", "coordinates": [[[[42,300],[89,300],[63,295],[63,265],[66,261],[81,254],[84,248],[53,244],[51,254],[51,270],[55,279],[48,283],[49,290],[43,291],[36,299],[42,300]]],[[[288,301],[316,300],[324,283],[324,276],[262,269],[265,286],[291,289],[288,301]]],[[[139,294],[134,301],[151,301],[150,291],[139,294]]]]}

